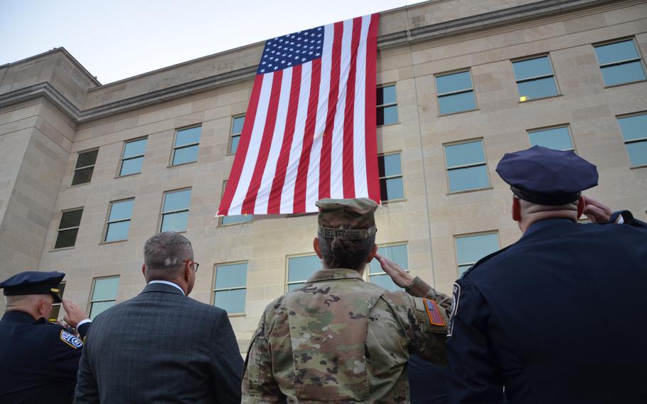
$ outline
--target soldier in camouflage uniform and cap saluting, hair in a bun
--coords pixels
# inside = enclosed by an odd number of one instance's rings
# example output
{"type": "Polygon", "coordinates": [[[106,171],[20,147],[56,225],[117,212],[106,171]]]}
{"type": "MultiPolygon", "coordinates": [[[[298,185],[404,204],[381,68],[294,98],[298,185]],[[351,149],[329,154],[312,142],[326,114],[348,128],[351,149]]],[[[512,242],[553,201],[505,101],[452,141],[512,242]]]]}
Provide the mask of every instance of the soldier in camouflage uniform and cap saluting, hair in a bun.
{"type": "Polygon", "coordinates": [[[323,270],[265,309],[245,361],[243,403],[408,403],[413,352],[446,363],[451,297],[379,257],[408,292],[364,282],[377,252],[369,199],[323,199],[323,270]]]}

